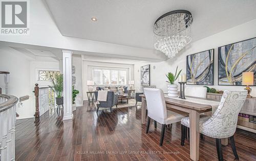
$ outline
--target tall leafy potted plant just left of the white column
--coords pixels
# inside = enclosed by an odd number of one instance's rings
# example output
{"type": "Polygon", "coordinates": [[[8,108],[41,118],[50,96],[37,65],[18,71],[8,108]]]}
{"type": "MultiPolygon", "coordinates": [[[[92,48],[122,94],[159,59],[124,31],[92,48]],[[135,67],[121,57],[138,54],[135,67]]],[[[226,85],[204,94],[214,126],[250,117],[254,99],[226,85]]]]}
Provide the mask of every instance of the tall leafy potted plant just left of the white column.
{"type": "Polygon", "coordinates": [[[56,94],[56,104],[63,104],[63,75],[55,73],[50,76],[52,80],[53,87],[49,86],[56,94]]]}

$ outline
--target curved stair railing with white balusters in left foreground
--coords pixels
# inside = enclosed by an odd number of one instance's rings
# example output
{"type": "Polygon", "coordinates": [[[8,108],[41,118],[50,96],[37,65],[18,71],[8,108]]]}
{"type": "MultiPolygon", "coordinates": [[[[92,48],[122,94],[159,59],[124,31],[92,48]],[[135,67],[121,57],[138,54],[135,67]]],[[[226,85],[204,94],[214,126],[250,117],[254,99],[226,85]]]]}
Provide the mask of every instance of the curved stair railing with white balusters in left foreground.
{"type": "Polygon", "coordinates": [[[15,160],[15,121],[18,98],[0,94],[0,160],[15,160]]]}

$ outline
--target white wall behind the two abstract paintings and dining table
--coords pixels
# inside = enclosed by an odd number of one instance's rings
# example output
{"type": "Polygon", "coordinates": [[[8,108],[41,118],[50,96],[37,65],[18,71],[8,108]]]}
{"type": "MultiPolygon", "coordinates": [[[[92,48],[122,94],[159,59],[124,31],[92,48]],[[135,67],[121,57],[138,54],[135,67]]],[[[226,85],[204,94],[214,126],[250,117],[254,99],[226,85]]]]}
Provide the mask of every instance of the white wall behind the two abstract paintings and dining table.
{"type": "MultiPolygon", "coordinates": [[[[220,24],[221,25],[221,24],[220,24]]],[[[143,63],[134,65],[134,77],[135,77],[135,88],[137,91],[140,88],[140,67],[146,64],[151,64],[151,85],[156,85],[157,88],[162,89],[167,92],[167,78],[165,76],[168,72],[175,72],[176,67],[179,66],[182,69],[182,74],[186,73],[186,56],[197,53],[200,51],[215,49],[215,64],[214,64],[214,86],[209,86],[211,88],[216,88],[217,90],[242,90],[242,86],[218,86],[218,47],[227,45],[230,43],[246,40],[249,38],[256,37],[256,19],[235,26],[234,28],[228,29],[226,31],[220,32],[218,34],[212,35],[210,37],[204,38],[202,40],[196,41],[188,45],[182,50],[176,59],[167,60],[159,63],[143,63]],[[153,69],[153,66],[156,69],[153,69]]],[[[251,87],[252,96],[256,96],[256,87],[251,87]]]]}

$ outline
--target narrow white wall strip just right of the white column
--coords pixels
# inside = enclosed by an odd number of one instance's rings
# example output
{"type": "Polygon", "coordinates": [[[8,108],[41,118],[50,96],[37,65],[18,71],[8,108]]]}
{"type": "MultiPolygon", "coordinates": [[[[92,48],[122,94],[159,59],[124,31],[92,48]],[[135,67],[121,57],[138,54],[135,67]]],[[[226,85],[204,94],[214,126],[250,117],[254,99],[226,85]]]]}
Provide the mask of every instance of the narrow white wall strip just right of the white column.
{"type": "Polygon", "coordinates": [[[75,84],[75,89],[79,91],[79,94],[76,96],[76,105],[77,106],[82,106],[83,103],[83,92],[82,92],[82,59],[81,56],[73,56],[72,57],[73,64],[76,68],[75,74],[73,76],[76,77],[76,84],[75,84]]]}

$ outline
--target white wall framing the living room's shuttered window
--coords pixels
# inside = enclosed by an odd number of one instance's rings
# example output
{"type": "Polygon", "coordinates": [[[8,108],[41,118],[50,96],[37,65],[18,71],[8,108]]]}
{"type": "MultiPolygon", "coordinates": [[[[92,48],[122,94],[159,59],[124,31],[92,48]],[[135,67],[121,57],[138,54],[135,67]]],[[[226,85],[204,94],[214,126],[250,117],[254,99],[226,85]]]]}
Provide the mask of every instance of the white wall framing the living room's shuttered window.
{"type": "Polygon", "coordinates": [[[92,66],[102,66],[102,67],[117,67],[117,68],[129,68],[129,80],[134,80],[134,65],[131,64],[117,64],[117,63],[103,63],[103,62],[91,62],[82,61],[82,84],[83,84],[83,100],[88,100],[87,98],[87,81],[92,80],[92,66]]]}

